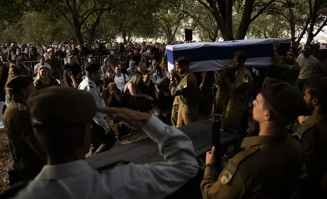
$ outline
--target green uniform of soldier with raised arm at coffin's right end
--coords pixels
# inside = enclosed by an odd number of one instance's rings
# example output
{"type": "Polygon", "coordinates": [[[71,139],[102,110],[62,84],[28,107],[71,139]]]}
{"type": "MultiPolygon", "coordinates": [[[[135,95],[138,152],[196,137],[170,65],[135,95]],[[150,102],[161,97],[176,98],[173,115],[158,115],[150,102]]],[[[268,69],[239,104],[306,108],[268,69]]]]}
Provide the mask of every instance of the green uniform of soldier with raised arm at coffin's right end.
{"type": "Polygon", "coordinates": [[[295,61],[291,65],[287,64],[282,58],[280,58],[277,51],[274,51],[274,62],[276,67],[278,67],[282,72],[282,77],[280,78],[291,85],[295,85],[301,70],[298,62],[295,61]]]}

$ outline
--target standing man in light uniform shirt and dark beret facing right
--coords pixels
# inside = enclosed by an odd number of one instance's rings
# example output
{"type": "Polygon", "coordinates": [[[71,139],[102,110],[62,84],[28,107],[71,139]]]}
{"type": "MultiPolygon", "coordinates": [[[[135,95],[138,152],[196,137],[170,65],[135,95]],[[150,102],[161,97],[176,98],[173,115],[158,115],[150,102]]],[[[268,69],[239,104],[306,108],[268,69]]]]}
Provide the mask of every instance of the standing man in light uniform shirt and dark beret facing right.
{"type": "MultiPolygon", "coordinates": [[[[100,63],[90,63],[85,67],[85,79],[78,86],[79,90],[89,91],[94,97],[96,106],[106,107],[105,101],[102,98],[101,92],[97,85],[100,84],[101,79],[101,65],[100,63]]],[[[116,142],[114,134],[111,132],[106,121],[106,114],[96,112],[92,125],[92,154],[101,153],[109,150],[116,142]]]]}

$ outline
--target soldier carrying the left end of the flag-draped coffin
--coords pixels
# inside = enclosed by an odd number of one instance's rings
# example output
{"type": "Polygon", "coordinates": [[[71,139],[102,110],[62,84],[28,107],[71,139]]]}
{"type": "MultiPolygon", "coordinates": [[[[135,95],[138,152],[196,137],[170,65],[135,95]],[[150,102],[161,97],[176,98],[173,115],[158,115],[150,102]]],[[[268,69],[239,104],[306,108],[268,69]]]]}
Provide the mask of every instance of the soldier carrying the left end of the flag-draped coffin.
{"type": "Polygon", "coordinates": [[[176,71],[171,70],[169,89],[175,97],[172,110],[172,125],[180,127],[198,120],[198,81],[189,70],[189,62],[185,57],[175,60],[176,71]],[[178,76],[176,76],[176,73],[178,76]]]}

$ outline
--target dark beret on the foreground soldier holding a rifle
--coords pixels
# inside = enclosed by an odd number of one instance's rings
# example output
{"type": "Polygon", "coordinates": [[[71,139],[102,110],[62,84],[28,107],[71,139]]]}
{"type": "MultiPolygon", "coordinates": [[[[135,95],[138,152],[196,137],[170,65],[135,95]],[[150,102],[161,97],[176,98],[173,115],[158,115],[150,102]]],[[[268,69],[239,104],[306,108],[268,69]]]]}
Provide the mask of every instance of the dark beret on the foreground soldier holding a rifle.
{"type": "Polygon", "coordinates": [[[292,121],[306,113],[306,102],[302,93],[291,84],[266,77],[261,89],[265,101],[286,120],[292,121]]]}

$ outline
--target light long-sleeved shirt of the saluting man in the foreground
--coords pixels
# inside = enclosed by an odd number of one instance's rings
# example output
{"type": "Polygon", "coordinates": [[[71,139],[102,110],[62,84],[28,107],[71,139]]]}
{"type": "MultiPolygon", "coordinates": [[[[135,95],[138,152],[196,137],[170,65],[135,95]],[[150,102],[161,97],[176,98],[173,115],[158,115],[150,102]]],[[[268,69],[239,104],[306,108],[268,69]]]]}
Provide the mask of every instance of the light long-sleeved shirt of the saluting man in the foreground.
{"type": "Polygon", "coordinates": [[[142,129],[158,144],[165,162],[131,162],[102,173],[92,170],[85,160],[45,165],[15,198],[161,199],[197,175],[199,164],[192,141],[181,130],[155,116],[142,129]]]}

